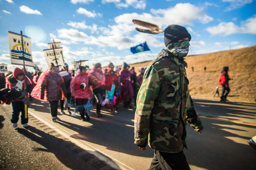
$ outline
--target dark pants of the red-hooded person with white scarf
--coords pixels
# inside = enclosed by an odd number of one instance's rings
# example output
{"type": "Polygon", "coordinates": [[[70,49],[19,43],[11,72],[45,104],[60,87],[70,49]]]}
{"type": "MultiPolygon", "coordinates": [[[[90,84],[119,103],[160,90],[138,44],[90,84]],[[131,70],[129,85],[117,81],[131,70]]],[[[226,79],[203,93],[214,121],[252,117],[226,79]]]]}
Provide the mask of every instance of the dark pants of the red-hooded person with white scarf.
{"type": "Polygon", "coordinates": [[[28,108],[29,105],[27,105],[27,112],[25,112],[25,104],[23,102],[11,102],[12,105],[12,115],[11,115],[11,122],[12,123],[17,123],[19,120],[19,115],[21,112],[21,124],[28,123],[29,118],[28,118],[28,108]]]}

